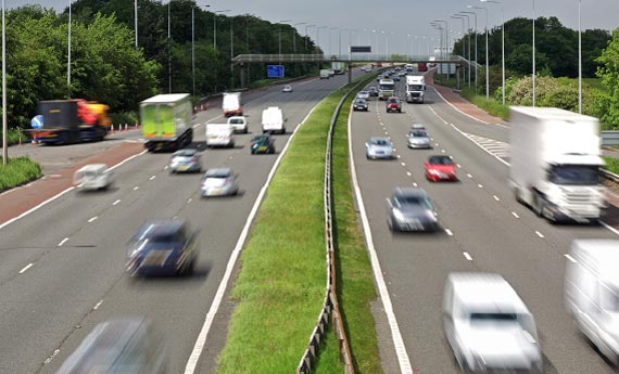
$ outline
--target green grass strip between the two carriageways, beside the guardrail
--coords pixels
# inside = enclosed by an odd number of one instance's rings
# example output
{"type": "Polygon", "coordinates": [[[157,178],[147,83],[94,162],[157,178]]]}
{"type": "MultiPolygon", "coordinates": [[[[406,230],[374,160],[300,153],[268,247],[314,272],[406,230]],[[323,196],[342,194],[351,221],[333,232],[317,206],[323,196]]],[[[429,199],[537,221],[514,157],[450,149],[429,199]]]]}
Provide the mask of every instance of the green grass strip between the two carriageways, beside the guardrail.
{"type": "MultiPolygon", "coordinates": [[[[298,130],[271,181],[241,256],[241,271],[231,291],[237,307],[230,321],[227,345],[219,357],[218,373],[290,373],[299,364],[307,345],[325,297],[324,163],[329,119],[343,92],[343,89],[339,90],[320,102],[298,130]]],[[[344,170],[343,178],[348,178],[348,170],[344,170]]],[[[342,182],[337,183],[341,189],[342,182]]],[[[350,196],[350,189],[346,194],[350,196]]],[[[344,206],[343,203],[338,204],[336,214],[345,216],[339,205],[344,206]]],[[[344,210],[352,215],[346,224],[352,224],[357,231],[340,234],[340,230],[345,229],[343,225],[338,228],[338,235],[342,238],[349,235],[350,242],[363,245],[363,236],[354,237],[359,232],[352,203],[344,210]]],[[[365,249],[362,254],[367,262],[365,249]]],[[[369,297],[374,298],[371,273],[364,274],[366,279],[363,281],[369,280],[370,284],[369,297]]],[[[349,279],[356,276],[349,275],[349,279]]],[[[362,298],[363,310],[354,310],[353,305],[358,302],[356,299],[350,307],[342,305],[342,309],[355,319],[365,314],[364,321],[369,322],[361,325],[356,334],[366,340],[374,339],[376,347],[376,337],[367,334],[367,325],[372,323],[368,302],[365,302],[368,291],[359,287],[358,292],[364,295],[346,294],[346,298],[362,298]]],[[[356,321],[352,323],[359,324],[356,321]]],[[[333,335],[327,337],[324,348],[319,359],[321,372],[332,373],[339,365],[333,335]]],[[[375,348],[372,352],[355,354],[377,362],[378,351],[375,348]]]]}

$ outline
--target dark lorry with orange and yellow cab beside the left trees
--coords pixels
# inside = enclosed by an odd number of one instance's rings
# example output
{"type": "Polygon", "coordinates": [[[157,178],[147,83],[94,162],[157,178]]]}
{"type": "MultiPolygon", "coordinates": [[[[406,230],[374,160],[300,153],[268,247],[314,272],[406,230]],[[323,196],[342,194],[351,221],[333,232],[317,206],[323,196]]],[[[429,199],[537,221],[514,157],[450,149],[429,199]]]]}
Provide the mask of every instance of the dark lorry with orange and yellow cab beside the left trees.
{"type": "Polygon", "coordinates": [[[42,144],[102,141],[112,125],[108,111],[108,105],[84,99],[39,101],[41,128],[25,132],[42,144]]]}

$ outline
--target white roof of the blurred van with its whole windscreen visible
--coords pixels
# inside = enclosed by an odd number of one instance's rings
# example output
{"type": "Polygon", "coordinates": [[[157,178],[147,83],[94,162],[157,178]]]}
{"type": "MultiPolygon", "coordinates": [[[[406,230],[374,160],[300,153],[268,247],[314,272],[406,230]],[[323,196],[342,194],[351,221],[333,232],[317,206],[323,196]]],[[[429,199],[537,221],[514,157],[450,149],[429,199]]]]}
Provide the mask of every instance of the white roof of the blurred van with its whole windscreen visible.
{"type": "Polygon", "coordinates": [[[522,299],[500,274],[451,273],[447,282],[452,284],[454,295],[467,310],[529,313],[522,299]]]}

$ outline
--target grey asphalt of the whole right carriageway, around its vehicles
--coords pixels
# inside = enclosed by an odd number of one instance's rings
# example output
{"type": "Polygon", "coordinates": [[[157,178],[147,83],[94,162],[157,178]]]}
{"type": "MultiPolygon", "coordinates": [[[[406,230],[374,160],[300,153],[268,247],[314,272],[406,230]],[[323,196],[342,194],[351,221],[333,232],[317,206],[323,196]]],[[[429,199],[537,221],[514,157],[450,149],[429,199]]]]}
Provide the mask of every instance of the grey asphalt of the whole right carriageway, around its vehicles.
{"type": "MultiPolygon", "coordinates": [[[[403,89],[404,82],[396,86],[401,98],[403,89]]],[[[617,233],[602,225],[553,225],[517,204],[506,182],[508,128],[476,121],[432,88],[426,92],[426,104],[404,102],[402,114],[387,114],[384,102],[376,100],[369,113],[351,114],[350,141],[361,195],[387,302],[393,306],[412,369],[459,372],[443,335],[444,281],[450,272],[480,271],[502,274],[535,317],[546,374],[612,373],[566,312],[563,280],[572,240],[617,238],[617,233]],[[426,125],[433,150],[407,149],[413,122],[426,125]],[[390,137],[399,158],[367,160],[364,143],[370,137],[390,137]],[[459,182],[428,182],[424,160],[431,154],[453,156],[459,182]],[[425,189],[435,203],[443,227],[439,233],[390,232],[386,197],[395,186],[413,185],[425,189]]]]}

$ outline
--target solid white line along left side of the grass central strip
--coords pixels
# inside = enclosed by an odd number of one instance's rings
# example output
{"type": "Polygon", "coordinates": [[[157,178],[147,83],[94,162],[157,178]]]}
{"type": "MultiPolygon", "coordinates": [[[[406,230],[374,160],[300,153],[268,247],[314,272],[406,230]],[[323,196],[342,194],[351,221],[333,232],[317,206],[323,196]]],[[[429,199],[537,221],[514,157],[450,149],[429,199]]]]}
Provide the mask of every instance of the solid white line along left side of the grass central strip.
{"type": "MultiPolygon", "coordinates": [[[[319,104],[319,102],[318,102],[318,104],[319,104]]],[[[235,269],[237,258],[239,257],[241,249],[243,248],[243,245],[245,244],[245,240],[248,237],[248,234],[249,234],[249,231],[251,228],[251,223],[253,222],[255,215],[257,214],[260,205],[262,204],[264,195],[266,194],[266,191],[270,184],[270,180],[273,179],[273,176],[275,175],[275,171],[277,170],[277,167],[279,166],[281,158],[286,154],[286,151],[288,150],[288,145],[290,144],[290,142],[292,141],[292,139],[296,134],[296,131],[301,128],[301,126],[303,126],[303,124],[305,122],[305,120],[307,120],[307,118],[312,115],[312,113],[314,113],[314,109],[316,109],[318,104],[316,104],[312,108],[312,111],[310,111],[310,113],[307,113],[305,118],[303,118],[301,124],[299,124],[299,126],[296,126],[296,128],[294,129],[294,131],[292,132],[290,138],[288,139],[286,146],[283,147],[283,150],[281,150],[279,156],[275,160],[275,164],[273,165],[273,168],[270,169],[270,172],[268,173],[266,182],[264,183],[263,188],[261,189],[261,191],[256,197],[256,201],[252,207],[252,210],[250,211],[250,214],[248,216],[245,224],[243,225],[243,229],[241,230],[241,234],[239,235],[239,240],[237,241],[237,245],[235,246],[235,249],[230,254],[230,258],[228,259],[228,265],[226,266],[226,272],[224,273],[224,276],[222,278],[222,282],[219,283],[219,286],[217,287],[217,293],[215,294],[213,302],[211,304],[211,308],[209,309],[209,312],[206,313],[206,317],[204,319],[204,324],[202,325],[202,330],[200,331],[200,334],[198,335],[198,339],[195,340],[195,344],[193,346],[193,350],[191,351],[191,354],[189,356],[189,359],[187,360],[187,364],[185,365],[185,372],[184,372],[185,374],[193,374],[195,372],[195,366],[198,365],[198,362],[200,361],[200,356],[202,354],[202,351],[204,349],[204,345],[206,344],[206,336],[209,335],[209,331],[211,330],[211,326],[213,325],[213,320],[215,319],[215,314],[217,314],[217,311],[219,310],[219,306],[222,305],[222,301],[224,299],[224,295],[226,294],[226,288],[228,287],[228,282],[230,281],[230,278],[232,275],[232,270],[235,269]]]]}

